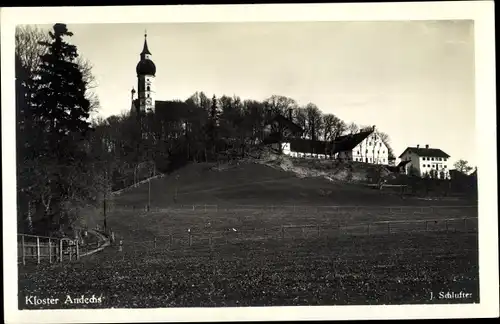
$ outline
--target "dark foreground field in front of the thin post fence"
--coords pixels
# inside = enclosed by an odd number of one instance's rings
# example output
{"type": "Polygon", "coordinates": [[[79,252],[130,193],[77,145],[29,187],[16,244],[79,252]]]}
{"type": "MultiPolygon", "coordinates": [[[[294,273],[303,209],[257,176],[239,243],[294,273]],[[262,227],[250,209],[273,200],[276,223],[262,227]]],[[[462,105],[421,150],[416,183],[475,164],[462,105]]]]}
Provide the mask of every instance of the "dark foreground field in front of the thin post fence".
{"type": "Polygon", "coordinates": [[[20,268],[26,296],[103,296],[44,308],[369,305],[479,301],[475,233],[401,233],[194,247],[105,249],[80,262],[20,268]],[[439,292],[472,298],[430,301],[439,292]]]}

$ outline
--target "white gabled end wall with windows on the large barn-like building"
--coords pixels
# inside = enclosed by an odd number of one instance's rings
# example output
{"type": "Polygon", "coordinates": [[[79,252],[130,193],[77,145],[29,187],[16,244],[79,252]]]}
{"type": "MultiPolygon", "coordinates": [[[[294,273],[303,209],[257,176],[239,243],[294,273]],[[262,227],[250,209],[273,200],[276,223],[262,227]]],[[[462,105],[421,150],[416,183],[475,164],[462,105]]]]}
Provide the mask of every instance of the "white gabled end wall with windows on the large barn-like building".
{"type": "Polygon", "coordinates": [[[389,164],[389,150],[377,132],[373,132],[352,151],[340,152],[340,158],[370,164],[389,164]]]}

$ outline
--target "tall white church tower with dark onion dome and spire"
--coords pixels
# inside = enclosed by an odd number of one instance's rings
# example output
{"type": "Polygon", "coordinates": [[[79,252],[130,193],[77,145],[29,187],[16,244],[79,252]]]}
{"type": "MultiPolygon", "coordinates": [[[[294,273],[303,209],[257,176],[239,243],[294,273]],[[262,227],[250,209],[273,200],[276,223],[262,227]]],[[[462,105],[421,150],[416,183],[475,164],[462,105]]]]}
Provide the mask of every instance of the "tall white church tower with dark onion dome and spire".
{"type": "Polygon", "coordinates": [[[141,52],[141,60],[137,63],[137,94],[138,110],[141,113],[155,111],[154,78],[156,66],[151,60],[151,52],[148,49],[147,34],[144,34],[144,47],[141,52]]]}

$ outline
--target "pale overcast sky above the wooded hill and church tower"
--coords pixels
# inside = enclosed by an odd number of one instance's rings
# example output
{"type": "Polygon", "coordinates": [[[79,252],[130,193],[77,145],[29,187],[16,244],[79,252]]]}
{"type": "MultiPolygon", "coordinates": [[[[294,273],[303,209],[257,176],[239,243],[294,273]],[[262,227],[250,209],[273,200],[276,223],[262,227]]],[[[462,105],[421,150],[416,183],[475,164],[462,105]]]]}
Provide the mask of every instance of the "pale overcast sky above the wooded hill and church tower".
{"type": "MultiPolygon", "coordinates": [[[[45,27],[45,26],[44,26],[45,27]]],[[[472,21],[68,25],[103,116],[130,109],[147,29],[156,99],[277,94],[376,125],[395,154],[440,148],[475,165],[472,21]]]]}

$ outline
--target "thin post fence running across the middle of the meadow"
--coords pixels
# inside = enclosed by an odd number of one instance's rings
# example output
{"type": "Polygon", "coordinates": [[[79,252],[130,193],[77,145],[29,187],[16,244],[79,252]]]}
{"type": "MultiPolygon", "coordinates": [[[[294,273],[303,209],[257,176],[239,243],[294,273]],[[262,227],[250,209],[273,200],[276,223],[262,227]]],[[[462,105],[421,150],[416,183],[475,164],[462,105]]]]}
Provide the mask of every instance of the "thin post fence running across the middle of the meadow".
{"type": "Polygon", "coordinates": [[[155,236],[145,241],[118,242],[121,251],[150,251],[154,249],[174,250],[189,247],[213,247],[221,244],[232,244],[244,241],[263,241],[266,239],[307,239],[334,238],[345,235],[391,235],[395,233],[416,232],[476,232],[477,217],[423,219],[423,220],[391,220],[360,224],[304,224],[282,225],[269,228],[246,230],[227,229],[211,232],[172,233],[155,236]]]}

